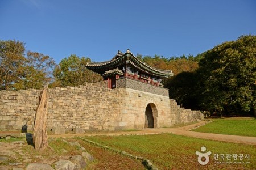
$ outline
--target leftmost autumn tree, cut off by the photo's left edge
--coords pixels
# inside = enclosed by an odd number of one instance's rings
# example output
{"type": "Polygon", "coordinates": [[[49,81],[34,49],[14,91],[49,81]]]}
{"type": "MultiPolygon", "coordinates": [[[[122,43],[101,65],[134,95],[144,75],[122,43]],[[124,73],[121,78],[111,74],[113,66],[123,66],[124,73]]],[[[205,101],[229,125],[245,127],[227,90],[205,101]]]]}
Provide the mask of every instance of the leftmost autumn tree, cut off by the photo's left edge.
{"type": "Polygon", "coordinates": [[[0,40],[0,90],[14,90],[13,84],[22,77],[24,44],[16,40],[0,40]]]}

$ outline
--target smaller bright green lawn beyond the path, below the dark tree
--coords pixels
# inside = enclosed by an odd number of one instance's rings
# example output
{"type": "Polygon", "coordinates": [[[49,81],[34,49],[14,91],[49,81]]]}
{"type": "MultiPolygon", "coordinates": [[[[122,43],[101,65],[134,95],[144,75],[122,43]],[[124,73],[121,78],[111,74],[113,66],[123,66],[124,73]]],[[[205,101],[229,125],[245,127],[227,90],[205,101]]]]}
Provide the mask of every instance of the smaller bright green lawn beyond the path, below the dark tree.
{"type": "Polygon", "coordinates": [[[256,120],[216,119],[192,131],[256,137],[256,120]]]}

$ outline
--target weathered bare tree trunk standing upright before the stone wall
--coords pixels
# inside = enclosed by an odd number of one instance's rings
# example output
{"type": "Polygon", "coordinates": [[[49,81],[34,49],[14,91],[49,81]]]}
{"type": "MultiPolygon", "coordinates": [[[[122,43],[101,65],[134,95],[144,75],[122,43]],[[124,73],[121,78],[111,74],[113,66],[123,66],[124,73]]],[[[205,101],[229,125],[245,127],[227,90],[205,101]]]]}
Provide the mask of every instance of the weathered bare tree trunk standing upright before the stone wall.
{"type": "Polygon", "coordinates": [[[43,151],[48,147],[48,137],[46,132],[48,98],[47,85],[40,93],[39,104],[35,114],[33,143],[36,151],[43,151]]]}

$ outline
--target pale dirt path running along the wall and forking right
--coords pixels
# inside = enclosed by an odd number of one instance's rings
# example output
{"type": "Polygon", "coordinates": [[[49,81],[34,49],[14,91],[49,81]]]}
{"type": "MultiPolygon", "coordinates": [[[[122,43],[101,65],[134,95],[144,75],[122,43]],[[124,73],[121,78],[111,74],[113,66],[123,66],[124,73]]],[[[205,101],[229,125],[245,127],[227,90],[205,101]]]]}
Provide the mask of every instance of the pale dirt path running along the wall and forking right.
{"type": "Polygon", "coordinates": [[[208,121],[201,121],[201,122],[197,122],[196,124],[178,127],[178,128],[158,128],[158,129],[148,128],[141,131],[118,131],[113,133],[61,134],[61,135],[49,135],[48,137],[49,138],[60,138],[60,137],[71,138],[71,137],[84,137],[84,136],[95,136],[95,135],[118,136],[118,135],[148,135],[148,134],[172,133],[177,135],[184,135],[187,137],[256,145],[256,137],[244,137],[244,136],[236,136],[236,135],[201,133],[196,131],[189,131],[190,129],[204,125],[207,122],[208,121]]]}

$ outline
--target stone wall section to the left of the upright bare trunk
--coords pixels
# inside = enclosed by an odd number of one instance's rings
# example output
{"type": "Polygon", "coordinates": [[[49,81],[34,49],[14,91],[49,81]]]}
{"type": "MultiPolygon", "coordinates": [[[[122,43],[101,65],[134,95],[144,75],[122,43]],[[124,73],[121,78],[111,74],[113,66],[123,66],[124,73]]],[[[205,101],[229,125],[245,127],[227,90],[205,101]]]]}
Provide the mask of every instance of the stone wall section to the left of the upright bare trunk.
{"type": "Polygon", "coordinates": [[[32,128],[40,90],[0,91],[0,130],[32,128]]]}

